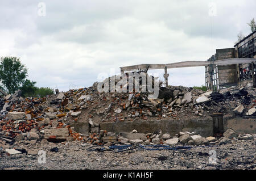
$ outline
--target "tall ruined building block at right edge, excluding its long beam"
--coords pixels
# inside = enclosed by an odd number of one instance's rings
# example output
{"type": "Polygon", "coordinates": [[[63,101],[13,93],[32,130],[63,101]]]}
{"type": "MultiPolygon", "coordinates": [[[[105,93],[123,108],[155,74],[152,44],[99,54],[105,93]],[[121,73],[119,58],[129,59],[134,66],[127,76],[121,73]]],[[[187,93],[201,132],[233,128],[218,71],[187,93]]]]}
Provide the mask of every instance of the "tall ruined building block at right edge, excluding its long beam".
{"type": "Polygon", "coordinates": [[[216,49],[216,54],[207,60],[210,64],[205,66],[205,86],[209,89],[224,89],[230,86],[255,87],[255,61],[251,59],[256,58],[255,37],[256,31],[235,44],[234,48],[216,49]],[[238,60],[238,64],[216,65],[218,60],[238,60]]]}

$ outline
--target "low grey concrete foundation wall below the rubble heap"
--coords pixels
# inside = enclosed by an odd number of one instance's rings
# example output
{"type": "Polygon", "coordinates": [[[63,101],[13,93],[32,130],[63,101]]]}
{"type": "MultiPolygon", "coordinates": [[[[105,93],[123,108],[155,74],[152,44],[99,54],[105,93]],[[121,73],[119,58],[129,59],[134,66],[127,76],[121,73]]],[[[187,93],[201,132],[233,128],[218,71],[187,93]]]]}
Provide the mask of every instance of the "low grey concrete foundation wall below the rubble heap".
{"type": "MultiPolygon", "coordinates": [[[[72,123],[76,132],[85,136],[89,133],[89,124],[72,123]]],[[[243,119],[242,117],[225,117],[223,118],[224,131],[228,128],[234,129],[238,133],[256,133],[256,118],[243,119]]],[[[197,132],[201,136],[213,136],[213,119],[212,117],[204,119],[189,120],[137,120],[137,121],[119,121],[117,123],[105,122],[100,124],[100,129],[108,132],[120,133],[131,132],[134,129],[138,133],[154,133],[162,130],[163,133],[169,133],[171,136],[179,132],[197,132]]]]}

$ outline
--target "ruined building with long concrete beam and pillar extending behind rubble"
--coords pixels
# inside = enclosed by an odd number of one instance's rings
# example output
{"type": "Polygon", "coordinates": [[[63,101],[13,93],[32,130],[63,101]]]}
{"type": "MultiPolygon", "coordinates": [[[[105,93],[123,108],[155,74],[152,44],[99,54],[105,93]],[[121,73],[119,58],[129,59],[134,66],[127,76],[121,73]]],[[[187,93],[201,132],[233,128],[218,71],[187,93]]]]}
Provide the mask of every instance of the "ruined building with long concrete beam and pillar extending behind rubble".
{"type": "Polygon", "coordinates": [[[234,45],[234,48],[216,49],[207,61],[183,61],[172,64],[139,64],[121,67],[121,73],[141,69],[164,69],[168,86],[168,69],[205,66],[205,86],[219,90],[230,86],[256,87],[256,31],[234,45]]]}

